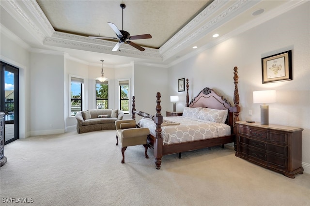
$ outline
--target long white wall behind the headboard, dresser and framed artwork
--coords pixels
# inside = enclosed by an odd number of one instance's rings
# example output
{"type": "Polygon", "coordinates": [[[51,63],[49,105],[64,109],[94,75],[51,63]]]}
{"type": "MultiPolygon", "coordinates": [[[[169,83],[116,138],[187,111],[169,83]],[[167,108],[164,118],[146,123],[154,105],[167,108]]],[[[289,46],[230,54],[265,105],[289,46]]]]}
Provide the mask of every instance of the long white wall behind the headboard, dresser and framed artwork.
{"type": "MultiPolygon", "coordinates": [[[[169,92],[175,81],[190,80],[190,99],[204,87],[214,88],[233,102],[233,67],[239,72],[240,120],[260,121],[260,105],[252,91],[276,89],[269,104],[269,123],[302,127],[302,162],[310,173],[310,2],[217,44],[169,70],[169,92]],[[262,84],[261,58],[292,50],[293,81],[262,84]],[[252,110],[252,116],[248,116],[252,110]]],[[[185,97],[183,102],[185,103],[185,97]]],[[[182,100],[180,98],[180,100],[182,100]]]]}

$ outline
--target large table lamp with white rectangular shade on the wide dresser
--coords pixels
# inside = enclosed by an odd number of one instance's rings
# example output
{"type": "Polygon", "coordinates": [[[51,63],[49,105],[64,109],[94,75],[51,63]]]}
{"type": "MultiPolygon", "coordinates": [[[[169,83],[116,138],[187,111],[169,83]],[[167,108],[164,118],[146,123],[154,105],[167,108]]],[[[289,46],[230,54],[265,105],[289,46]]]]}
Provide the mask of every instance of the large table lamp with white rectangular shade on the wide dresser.
{"type": "Polygon", "coordinates": [[[276,90],[253,91],[253,103],[263,103],[261,105],[261,124],[269,124],[269,106],[266,103],[276,102],[276,90]]]}

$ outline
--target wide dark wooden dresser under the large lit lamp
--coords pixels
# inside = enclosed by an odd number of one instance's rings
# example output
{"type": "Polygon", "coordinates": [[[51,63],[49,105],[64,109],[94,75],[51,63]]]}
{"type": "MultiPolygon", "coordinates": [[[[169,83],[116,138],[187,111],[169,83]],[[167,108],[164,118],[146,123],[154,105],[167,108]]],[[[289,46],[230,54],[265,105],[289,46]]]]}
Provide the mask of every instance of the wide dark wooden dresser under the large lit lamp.
{"type": "Polygon", "coordinates": [[[302,128],[237,122],[236,156],[295,178],[301,167],[302,128]]]}

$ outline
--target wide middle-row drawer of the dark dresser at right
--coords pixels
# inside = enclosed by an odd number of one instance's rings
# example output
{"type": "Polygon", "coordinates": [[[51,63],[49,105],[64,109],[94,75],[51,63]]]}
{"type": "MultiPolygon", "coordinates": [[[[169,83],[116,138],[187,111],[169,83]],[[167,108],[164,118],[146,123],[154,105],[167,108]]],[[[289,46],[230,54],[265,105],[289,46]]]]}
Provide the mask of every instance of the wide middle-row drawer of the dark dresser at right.
{"type": "Polygon", "coordinates": [[[247,137],[238,136],[238,141],[242,144],[248,145],[248,147],[252,147],[254,149],[260,149],[264,152],[268,152],[271,154],[281,155],[283,157],[287,157],[287,146],[282,145],[273,145],[266,142],[249,139],[247,137]]]}

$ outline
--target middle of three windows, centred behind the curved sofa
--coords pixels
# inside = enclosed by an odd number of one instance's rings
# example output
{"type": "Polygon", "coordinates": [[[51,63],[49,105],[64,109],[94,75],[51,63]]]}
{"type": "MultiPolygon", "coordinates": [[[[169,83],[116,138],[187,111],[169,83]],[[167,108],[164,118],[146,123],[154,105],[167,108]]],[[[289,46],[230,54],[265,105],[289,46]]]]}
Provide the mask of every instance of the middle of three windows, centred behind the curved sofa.
{"type": "Polygon", "coordinates": [[[109,84],[108,81],[96,80],[96,109],[108,109],[109,84]]]}

